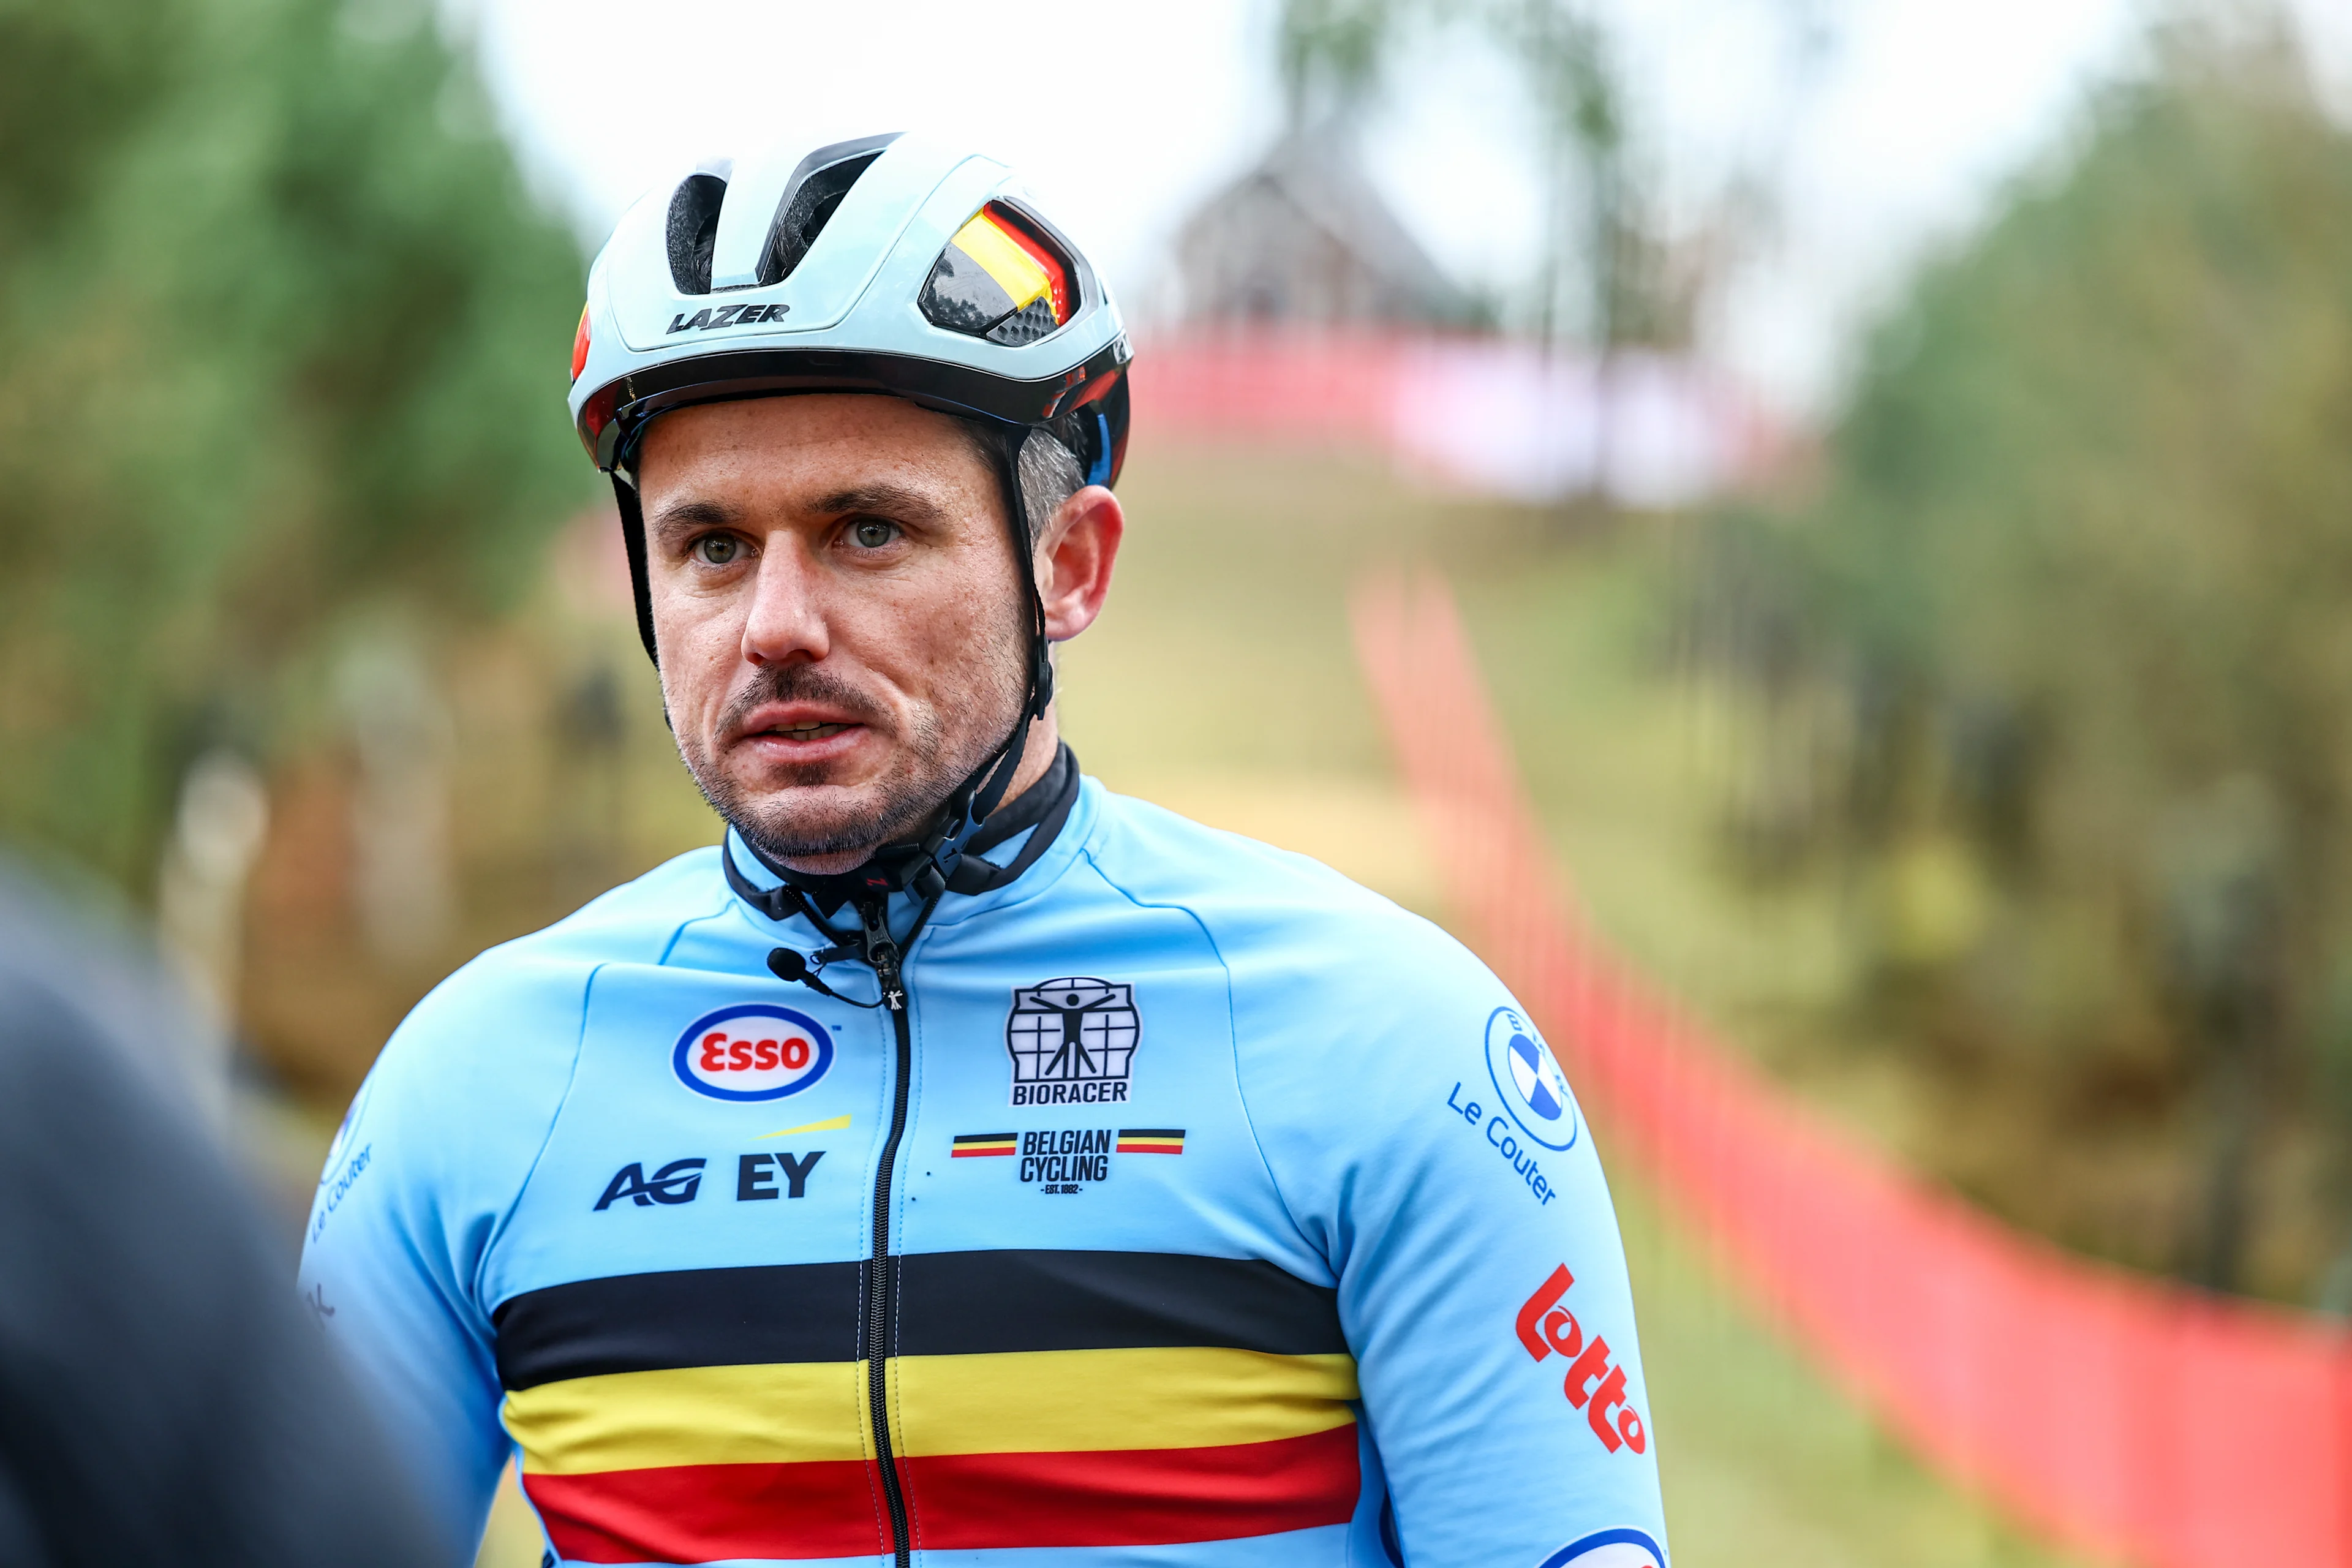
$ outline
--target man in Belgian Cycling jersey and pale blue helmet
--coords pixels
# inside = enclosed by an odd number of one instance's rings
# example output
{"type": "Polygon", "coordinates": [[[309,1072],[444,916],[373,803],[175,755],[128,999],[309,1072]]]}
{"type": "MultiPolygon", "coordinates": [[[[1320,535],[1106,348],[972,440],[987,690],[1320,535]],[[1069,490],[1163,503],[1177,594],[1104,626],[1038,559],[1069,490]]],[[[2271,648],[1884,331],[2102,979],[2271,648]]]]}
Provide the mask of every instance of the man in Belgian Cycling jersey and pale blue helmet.
{"type": "Polygon", "coordinates": [[[515,1450],[560,1561],[1663,1566],[1536,1030],[1058,743],[1127,362],[915,139],[706,167],[600,256],[572,407],[729,835],[468,964],[350,1112],[306,1284],[452,1563],[515,1450]]]}

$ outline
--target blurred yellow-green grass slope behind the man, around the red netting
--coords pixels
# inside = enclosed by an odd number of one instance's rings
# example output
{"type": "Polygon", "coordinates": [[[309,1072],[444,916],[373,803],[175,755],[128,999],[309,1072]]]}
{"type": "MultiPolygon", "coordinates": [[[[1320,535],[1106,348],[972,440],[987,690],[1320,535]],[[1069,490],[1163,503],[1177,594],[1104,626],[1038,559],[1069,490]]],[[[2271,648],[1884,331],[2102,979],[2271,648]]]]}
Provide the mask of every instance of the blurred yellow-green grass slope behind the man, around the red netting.
{"type": "MultiPolygon", "coordinates": [[[[1345,621],[1364,567],[1432,562],[1463,597],[1538,809],[1599,926],[1731,1034],[1804,1058],[1783,1046],[1804,1004],[1837,985],[1832,912],[1759,903],[1715,870],[1724,719],[1665,677],[1651,590],[1663,541],[1564,538],[1559,524],[1435,501],[1341,456],[1143,451],[1122,496],[1131,534],[1110,611],[1063,665],[1065,729],[1091,773],[1444,919],[1345,621]]],[[[684,790],[640,785],[640,809],[713,837],[684,790]]],[[[1900,1084],[1842,1074],[1823,1093],[1867,1121],[1903,1114],[1900,1084]]],[[[1682,1568],[2067,1561],[1912,1465],[1722,1288],[1632,1173],[1611,1182],[1682,1568]]],[[[485,1566],[524,1568],[536,1552],[529,1516],[503,1497],[485,1566]]]]}

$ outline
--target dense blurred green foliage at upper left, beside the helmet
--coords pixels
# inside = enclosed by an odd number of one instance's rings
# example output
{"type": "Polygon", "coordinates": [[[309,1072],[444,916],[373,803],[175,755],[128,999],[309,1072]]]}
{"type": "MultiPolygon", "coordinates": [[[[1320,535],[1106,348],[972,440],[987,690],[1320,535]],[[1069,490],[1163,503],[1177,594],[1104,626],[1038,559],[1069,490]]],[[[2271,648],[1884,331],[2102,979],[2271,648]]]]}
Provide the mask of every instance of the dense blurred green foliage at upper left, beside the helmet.
{"type": "Polygon", "coordinates": [[[494,609],[579,282],[430,7],[0,0],[0,832],[143,889],[193,731],[494,609]]]}

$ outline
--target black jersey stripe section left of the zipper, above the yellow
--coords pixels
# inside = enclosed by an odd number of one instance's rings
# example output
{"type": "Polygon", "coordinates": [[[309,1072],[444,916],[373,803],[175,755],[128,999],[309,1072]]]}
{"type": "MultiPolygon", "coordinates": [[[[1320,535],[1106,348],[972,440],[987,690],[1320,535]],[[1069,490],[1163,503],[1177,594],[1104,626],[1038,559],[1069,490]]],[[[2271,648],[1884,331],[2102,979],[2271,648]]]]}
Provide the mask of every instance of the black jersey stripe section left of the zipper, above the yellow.
{"type": "Polygon", "coordinates": [[[499,1302],[499,1382],[858,1359],[863,1262],[612,1274],[499,1302]]]}

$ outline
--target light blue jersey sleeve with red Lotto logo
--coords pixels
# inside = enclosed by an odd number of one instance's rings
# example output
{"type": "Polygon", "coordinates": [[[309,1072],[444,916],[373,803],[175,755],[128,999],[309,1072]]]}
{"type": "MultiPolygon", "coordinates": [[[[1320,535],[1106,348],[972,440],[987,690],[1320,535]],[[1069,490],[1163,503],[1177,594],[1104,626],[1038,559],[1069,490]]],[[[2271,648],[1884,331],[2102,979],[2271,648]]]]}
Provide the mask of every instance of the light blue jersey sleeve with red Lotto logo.
{"type": "Polygon", "coordinates": [[[1435,926],[1303,926],[1235,973],[1242,1091],[1338,1279],[1383,1544],[1414,1568],[1663,1568],[1625,1251],[1550,1048],[1435,926]]]}

